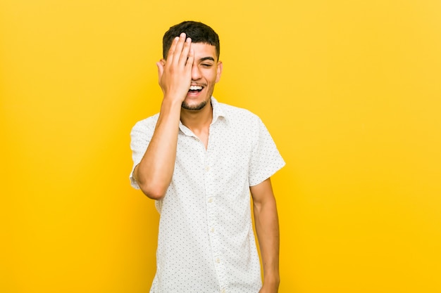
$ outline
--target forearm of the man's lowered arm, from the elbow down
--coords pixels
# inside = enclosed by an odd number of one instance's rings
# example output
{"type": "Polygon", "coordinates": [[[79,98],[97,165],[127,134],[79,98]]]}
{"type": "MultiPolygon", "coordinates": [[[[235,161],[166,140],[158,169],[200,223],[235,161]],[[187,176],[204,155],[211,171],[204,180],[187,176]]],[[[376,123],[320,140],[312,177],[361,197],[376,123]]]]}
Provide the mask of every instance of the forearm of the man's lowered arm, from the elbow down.
{"type": "Polygon", "coordinates": [[[254,220],[263,263],[263,287],[272,289],[268,292],[277,292],[280,282],[280,233],[274,197],[265,202],[254,202],[254,220]]]}

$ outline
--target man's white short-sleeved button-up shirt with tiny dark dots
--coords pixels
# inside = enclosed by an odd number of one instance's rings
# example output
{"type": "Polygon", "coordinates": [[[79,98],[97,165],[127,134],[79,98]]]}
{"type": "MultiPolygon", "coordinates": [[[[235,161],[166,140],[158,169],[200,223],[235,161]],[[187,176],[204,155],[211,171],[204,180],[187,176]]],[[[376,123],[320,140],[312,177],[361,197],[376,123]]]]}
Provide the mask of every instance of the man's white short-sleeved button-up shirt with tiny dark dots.
{"type": "MultiPolygon", "coordinates": [[[[285,165],[261,119],[211,98],[207,149],[182,123],[173,178],[163,200],[156,275],[151,293],[257,293],[259,256],[249,186],[285,165]]],[[[141,161],[159,114],[131,132],[133,169],[141,161]]],[[[132,171],[133,173],[133,171],[132,171]]],[[[134,188],[139,188],[130,174],[134,188]]]]}

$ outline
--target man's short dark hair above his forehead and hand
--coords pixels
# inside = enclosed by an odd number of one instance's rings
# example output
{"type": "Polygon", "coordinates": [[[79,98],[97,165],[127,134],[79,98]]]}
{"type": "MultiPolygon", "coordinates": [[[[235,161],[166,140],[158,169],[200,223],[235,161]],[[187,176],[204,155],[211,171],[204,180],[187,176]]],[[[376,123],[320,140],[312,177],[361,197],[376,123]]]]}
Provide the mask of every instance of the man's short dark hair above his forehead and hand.
{"type": "Polygon", "coordinates": [[[185,32],[187,37],[192,39],[193,43],[204,43],[215,46],[217,57],[219,59],[221,46],[219,44],[218,34],[216,34],[216,32],[208,25],[196,21],[185,21],[178,25],[173,25],[173,27],[170,27],[170,29],[164,34],[162,39],[162,56],[164,59],[167,59],[168,50],[170,50],[173,39],[178,37],[182,32],[185,32]]]}

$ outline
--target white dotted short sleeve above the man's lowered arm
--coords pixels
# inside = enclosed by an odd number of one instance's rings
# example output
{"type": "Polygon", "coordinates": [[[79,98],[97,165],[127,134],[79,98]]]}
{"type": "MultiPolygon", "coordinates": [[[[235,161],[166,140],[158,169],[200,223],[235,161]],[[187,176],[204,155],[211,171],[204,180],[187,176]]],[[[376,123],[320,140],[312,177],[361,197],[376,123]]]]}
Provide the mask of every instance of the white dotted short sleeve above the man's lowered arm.
{"type": "Polygon", "coordinates": [[[256,141],[249,164],[249,185],[254,186],[270,178],[285,166],[273,138],[261,119],[256,122],[256,141]]]}

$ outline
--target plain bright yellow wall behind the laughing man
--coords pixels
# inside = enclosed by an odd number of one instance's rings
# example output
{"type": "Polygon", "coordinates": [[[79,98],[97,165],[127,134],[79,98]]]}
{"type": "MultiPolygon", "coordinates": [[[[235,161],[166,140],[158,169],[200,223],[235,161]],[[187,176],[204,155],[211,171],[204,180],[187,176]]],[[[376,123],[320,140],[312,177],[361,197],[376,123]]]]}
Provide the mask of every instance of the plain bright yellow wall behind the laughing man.
{"type": "Polygon", "coordinates": [[[2,0],[0,292],[148,292],[129,133],[182,20],[220,34],[216,98],[287,162],[280,292],[441,292],[439,0],[2,0]]]}

